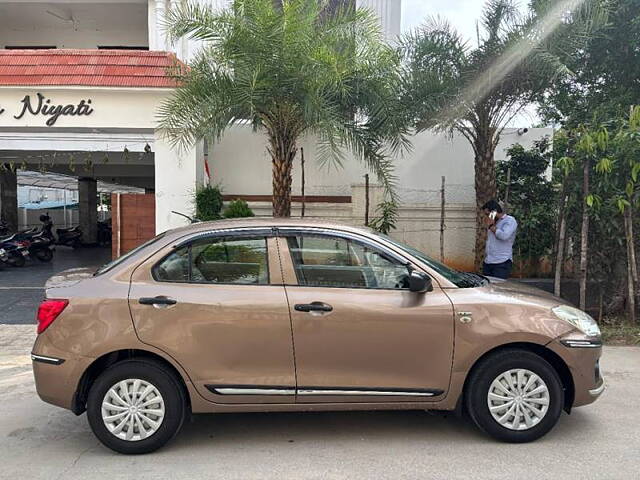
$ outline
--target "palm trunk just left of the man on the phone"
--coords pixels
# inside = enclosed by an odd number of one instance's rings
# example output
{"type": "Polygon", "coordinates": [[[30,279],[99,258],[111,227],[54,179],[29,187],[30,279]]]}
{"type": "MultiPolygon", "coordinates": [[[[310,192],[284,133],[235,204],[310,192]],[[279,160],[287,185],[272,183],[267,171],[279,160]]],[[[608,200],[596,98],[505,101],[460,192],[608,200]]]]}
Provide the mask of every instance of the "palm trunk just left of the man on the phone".
{"type": "Polygon", "coordinates": [[[476,244],[475,267],[482,269],[485,245],[487,242],[487,228],[484,223],[482,205],[496,198],[496,165],[493,154],[495,152],[492,134],[478,138],[474,142],[475,152],[475,187],[476,187],[476,244]]]}

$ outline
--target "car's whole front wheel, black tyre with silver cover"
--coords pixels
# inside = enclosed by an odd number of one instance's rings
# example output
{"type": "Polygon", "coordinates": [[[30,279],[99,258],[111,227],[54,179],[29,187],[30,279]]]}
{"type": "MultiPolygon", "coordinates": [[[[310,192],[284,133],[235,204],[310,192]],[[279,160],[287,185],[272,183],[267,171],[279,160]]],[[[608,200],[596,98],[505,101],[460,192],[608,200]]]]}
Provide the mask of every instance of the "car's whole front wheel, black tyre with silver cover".
{"type": "Polygon", "coordinates": [[[542,357],[527,350],[508,349],[474,367],[465,389],[465,406],[473,422],[486,434],[503,442],[526,443],[544,436],[558,422],[564,390],[558,373],[542,357]],[[521,388],[514,389],[513,384],[520,384],[521,388]],[[522,395],[522,385],[529,392],[527,395],[522,395]],[[512,399],[511,403],[506,398],[512,399]]]}

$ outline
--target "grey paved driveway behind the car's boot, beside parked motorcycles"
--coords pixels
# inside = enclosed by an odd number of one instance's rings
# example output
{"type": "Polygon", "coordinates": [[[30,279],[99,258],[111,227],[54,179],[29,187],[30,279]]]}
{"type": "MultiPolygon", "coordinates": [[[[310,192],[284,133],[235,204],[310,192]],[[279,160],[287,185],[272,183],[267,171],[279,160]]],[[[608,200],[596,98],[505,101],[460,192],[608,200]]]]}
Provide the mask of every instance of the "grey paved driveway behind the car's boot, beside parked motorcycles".
{"type": "Polygon", "coordinates": [[[0,324],[36,323],[36,310],[49,277],[69,268],[98,268],[110,259],[110,248],[56,247],[50,263],[33,260],[22,268],[3,268],[0,270],[0,324]]]}

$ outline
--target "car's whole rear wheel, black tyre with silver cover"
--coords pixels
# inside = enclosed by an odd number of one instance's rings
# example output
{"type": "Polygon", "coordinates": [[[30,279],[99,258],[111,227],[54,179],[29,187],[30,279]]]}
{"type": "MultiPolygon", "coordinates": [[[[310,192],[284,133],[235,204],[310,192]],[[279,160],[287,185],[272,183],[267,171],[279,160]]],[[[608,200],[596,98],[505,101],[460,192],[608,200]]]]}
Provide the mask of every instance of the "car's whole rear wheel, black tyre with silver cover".
{"type": "Polygon", "coordinates": [[[93,383],[87,398],[87,419],[91,430],[105,446],[124,454],[150,453],[165,445],[180,431],[186,409],[185,393],[178,380],[165,367],[147,359],[126,360],[109,367],[93,383]],[[128,402],[128,393],[123,391],[121,382],[126,384],[127,392],[131,393],[137,391],[140,394],[148,387],[155,389],[141,399],[141,405],[147,405],[138,415],[138,419],[143,419],[140,423],[136,419],[129,421],[131,413],[112,394],[115,390],[120,398],[125,399],[126,404],[135,404],[128,402]],[[103,401],[118,409],[124,407],[124,411],[103,409],[103,401]],[[103,412],[108,419],[113,419],[114,415],[124,417],[112,421],[108,427],[103,412]],[[142,412],[145,412],[145,417],[142,412]],[[121,421],[122,418],[125,421],[121,421]],[[155,429],[153,423],[156,424],[155,429]],[[124,426],[120,426],[121,424],[124,426]],[[118,427],[121,430],[118,431],[118,427]],[[141,434],[141,429],[146,434],[141,434]],[[131,438],[124,438],[129,436],[130,430],[131,438]]]}

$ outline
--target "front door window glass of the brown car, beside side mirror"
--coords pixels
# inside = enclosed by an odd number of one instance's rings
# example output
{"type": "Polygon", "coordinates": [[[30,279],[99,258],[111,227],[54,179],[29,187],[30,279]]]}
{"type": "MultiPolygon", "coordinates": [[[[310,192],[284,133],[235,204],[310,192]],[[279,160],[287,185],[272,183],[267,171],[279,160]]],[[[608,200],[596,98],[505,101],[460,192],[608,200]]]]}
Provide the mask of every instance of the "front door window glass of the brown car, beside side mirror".
{"type": "Polygon", "coordinates": [[[301,235],[287,238],[299,285],[406,289],[407,267],[350,239],[301,235]]]}

